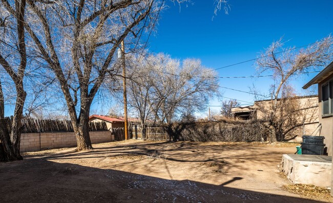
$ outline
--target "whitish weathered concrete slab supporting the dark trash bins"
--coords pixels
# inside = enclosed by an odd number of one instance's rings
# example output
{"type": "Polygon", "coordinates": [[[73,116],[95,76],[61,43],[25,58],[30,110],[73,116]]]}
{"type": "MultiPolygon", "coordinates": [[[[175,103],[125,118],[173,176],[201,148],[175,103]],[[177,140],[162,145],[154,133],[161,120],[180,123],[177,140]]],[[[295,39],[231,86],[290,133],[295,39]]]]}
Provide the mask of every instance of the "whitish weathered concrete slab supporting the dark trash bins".
{"type": "Polygon", "coordinates": [[[331,156],[283,154],[280,171],[293,184],[330,187],[331,156]]]}

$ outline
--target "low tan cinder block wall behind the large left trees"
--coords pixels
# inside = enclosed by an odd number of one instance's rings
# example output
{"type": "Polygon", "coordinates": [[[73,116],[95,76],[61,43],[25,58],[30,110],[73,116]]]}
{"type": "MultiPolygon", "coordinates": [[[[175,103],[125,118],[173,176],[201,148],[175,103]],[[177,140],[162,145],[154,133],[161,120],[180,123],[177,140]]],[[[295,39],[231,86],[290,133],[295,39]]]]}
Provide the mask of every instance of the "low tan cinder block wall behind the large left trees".
{"type": "MultiPolygon", "coordinates": [[[[92,144],[114,141],[110,131],[89,132],[92,144]]],[[[20,151],[36,151],[45,148],[75,147],[74,132],[22,133],[20,151]]]]}

